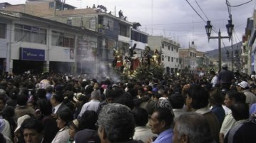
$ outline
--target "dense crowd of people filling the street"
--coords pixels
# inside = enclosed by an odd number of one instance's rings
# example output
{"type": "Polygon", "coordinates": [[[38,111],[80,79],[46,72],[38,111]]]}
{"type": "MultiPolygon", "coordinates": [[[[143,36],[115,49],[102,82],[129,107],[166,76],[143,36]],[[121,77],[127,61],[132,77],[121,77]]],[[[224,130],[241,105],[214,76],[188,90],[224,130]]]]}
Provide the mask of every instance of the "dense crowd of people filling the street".
{"type": "Polygon", "coordinates": [[[108,77],[8,73],[0,78],[0,142],[256,142],[255,73],[108,77]]]}

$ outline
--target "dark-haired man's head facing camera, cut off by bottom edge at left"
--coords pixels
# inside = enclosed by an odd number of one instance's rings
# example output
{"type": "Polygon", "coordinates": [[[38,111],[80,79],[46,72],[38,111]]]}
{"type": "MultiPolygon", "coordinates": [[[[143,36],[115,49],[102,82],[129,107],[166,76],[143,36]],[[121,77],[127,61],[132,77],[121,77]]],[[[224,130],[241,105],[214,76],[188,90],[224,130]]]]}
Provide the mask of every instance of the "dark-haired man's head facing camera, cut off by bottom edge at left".
{"type": "Polygon", "coordinates": [[[43,139],[43,125],[39,120],[28,118],[21,125],[26,143],[39,143],[43,139]]]}

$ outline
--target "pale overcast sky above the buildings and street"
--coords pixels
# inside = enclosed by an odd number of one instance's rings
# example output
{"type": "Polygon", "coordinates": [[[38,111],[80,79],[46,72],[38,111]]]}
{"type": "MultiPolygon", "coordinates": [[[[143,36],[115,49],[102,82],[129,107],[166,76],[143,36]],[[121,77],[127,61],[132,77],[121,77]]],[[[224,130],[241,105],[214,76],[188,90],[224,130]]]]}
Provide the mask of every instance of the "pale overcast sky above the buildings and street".
{"type": "MultiPolygon", "coordinates": [[[[10,4],[24,4],[26,0],[8,0],[10,4]]],[[[62,0],[64,1],[64,0],[62,0]]],[[[233,43],[242,40],[245,33],[247,18],[252,17],[256,6],[256,0],[229,0],[231,6],[235,33],[233,43]]],[[[0,0],[7,2],[7,0],[0,0]]],[[[139,22],[141,31],[150,35],[161,35],[173,39],[180,43],[182,48],[187,48],[188,43],[195,41],[198,51],[210,51],[217,49],[217,39],[208,38],[205,33],[205,21],[210,20],[216,31],[220,28],[222,36],[227,36],[225,25],[229,19],[226,0],[66,0],[66,4],[76,6],[78,9],[86,6],[103,5],[108,11],[118,16],[118,11],[122,10],[130,22],[139,22]],[[188,4],[190,3],[195,11],[188,4]]],[[[211,36],[217,36],[212,32],[211,36]]],[[[225,46],[231,43],[223,39],[225,46]]],[[[222,46],[223,46],[222,43],[222,46]]]]}

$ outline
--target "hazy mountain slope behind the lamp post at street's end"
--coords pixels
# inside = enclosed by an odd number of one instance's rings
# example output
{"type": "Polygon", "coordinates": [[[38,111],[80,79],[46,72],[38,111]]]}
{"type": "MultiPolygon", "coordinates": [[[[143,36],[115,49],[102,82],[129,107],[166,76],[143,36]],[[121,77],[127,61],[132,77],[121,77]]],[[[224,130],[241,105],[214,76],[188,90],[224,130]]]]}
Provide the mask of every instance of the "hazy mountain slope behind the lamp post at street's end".
{"type": "MultiPolygon", "coordinates": [[[[235,51],[238,51],[239,53],[241,53],[241,46],[242,46],[242,42],[233,44],[232,48],[233,48],[233,55],[234,56],[235,56],[235,51]]],[[[222,61],[230,60],[230,59],[227,58],[227,54],[226,54],[227,51],[229,51],[230,56],[231,56],[231,46],[226,46],[226,47],[221,48],[221,59],[222,59],[222,61]]],[[[213,50],[213,51],[207,51],[205,53],[208,53],[210,58],[215,58],[215,59],[219,58],[219,49],[218,48],[213,50]]]]}

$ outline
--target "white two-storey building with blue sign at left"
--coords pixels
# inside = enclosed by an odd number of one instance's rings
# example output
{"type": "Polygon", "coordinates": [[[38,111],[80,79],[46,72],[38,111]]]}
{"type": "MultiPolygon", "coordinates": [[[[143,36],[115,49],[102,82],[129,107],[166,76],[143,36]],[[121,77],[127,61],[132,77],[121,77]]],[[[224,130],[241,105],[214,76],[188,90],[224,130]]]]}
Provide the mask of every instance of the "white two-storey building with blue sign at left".
{"type": "Polygon", "coordinates": [[[88,51],[97,49],[101,37],[101,33],[66,23],[0,11],[1,71],[75,73],[83,68],[79,64],[83,58],[89,58],[87,66],[96,71],[97,58],[88,51]]]}

